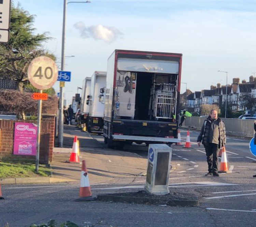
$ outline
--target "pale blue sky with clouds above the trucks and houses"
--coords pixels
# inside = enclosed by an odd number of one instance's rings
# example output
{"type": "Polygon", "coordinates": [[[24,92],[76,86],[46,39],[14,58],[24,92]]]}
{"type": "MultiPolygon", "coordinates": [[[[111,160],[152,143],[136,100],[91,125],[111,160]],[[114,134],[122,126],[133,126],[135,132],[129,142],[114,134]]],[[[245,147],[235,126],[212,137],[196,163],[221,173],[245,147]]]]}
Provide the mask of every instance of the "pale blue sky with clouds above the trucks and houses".
{"type": "MultiPolygon", "coordinates": [[[[71,1],[71,0],[70,0],[71,1]]],[[[36,33],[53,37],[44,48],[60,65],[62,0],[14,0],[36,15],[36,33]]],[[[182,82],[192,92],[226,84],[239,77],[248,81],[256,72],[256,6],[253,1],[91,0],[67,5],[65,86],[68,102],[95,70],[105,71],[115,49],[183,54],[182,82]]],[[[256,74],[255,74],[256,76],[256,74]]],[[[59,84],[54,85],[56,92],[59,84]]],[[[185,92],[182,84],[181,92],[185,92]]],[[[80,92],[80,91],[79,91],[80,92]]]]}

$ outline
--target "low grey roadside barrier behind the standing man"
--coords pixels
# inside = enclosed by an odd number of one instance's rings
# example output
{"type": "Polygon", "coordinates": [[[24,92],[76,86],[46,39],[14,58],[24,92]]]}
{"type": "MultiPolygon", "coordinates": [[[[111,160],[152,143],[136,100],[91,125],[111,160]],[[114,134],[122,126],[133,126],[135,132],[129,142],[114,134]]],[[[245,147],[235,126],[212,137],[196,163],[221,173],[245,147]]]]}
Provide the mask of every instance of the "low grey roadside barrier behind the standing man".
{"type": "MultiPolygon", "coordinates": [[[[239,118],[221,118],[226,127],[226,133],[230,135],[238,135],[238,136],[254,136],[254,120],[242,120],[239,118]]],[[[186,127],[194,127],[197,129],[201,129],[204,117],[186,117],[184,121],[184,125],[186,127]]]]}

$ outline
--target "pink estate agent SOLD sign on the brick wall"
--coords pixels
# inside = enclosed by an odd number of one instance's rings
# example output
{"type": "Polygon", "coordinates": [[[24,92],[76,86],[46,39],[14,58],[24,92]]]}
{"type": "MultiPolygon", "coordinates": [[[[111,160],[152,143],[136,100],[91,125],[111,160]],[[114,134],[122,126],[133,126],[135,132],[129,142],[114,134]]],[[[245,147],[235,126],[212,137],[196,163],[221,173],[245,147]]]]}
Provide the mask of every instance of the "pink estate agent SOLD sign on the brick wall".
{"type": "Polygon", "coordinates": [[[32,123],[14,124],[14,155],[37,155],[37,126],[32,123]]]}

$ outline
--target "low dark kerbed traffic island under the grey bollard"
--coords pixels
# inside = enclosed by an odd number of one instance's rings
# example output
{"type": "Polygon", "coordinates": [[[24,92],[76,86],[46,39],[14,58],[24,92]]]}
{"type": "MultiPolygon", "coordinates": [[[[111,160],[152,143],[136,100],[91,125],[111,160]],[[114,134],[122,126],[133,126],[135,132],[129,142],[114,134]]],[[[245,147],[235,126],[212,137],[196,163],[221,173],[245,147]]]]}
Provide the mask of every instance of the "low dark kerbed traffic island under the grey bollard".
{"type": "Polygon", "coordinates": [[[171,192],[166,195],[153,195],[146,191],[99,194],[97,200],[147,205],[199,206],[199,199],[195,194],[179,192],[171,192]]]}

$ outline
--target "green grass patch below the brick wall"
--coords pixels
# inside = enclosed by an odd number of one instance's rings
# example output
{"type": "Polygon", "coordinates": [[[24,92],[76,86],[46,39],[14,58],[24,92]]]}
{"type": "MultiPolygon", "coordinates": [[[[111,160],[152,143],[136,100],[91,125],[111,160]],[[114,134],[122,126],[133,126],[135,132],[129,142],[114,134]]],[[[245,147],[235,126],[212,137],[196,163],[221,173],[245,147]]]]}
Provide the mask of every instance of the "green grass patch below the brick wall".
{"type": "Polygon", "coordinates": [[[17,177],[48,177],[51,169],[45,165],[39,165],[38,173],[35,172],[35,164],[32,163],[10,163],[0,161],[0,178],[17,177]]]}

